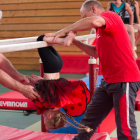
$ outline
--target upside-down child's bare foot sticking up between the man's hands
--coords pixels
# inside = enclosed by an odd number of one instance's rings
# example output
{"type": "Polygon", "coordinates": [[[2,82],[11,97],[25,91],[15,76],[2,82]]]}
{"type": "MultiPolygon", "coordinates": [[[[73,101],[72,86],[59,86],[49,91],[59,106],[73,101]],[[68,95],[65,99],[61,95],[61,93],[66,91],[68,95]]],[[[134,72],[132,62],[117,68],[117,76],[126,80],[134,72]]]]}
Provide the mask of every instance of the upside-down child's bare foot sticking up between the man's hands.
{"type": "Polygon", "coordinates": [[[68,47],[76,36],[76,32],[70,31],[68,36],[64,39],[64,46],[68,47]]]}

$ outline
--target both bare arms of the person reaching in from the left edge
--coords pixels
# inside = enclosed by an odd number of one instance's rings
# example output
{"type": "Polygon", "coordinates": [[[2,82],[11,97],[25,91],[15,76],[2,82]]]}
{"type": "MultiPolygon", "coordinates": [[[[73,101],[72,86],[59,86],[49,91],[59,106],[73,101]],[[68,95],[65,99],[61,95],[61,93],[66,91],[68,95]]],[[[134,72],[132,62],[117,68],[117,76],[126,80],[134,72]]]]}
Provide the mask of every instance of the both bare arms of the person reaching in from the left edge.
{"type": "Polygon", "coordinates": [[[40,96],[33,90],[32,86],[23,85],[18,81],[25,84],[30,82],[26,76],[20,74],[13,67],[10,61],[3,54],[0,54],[0,84],[11,90],[21,92],[30,100],[35,100],[36,98],[41,100],[40,96]]]}

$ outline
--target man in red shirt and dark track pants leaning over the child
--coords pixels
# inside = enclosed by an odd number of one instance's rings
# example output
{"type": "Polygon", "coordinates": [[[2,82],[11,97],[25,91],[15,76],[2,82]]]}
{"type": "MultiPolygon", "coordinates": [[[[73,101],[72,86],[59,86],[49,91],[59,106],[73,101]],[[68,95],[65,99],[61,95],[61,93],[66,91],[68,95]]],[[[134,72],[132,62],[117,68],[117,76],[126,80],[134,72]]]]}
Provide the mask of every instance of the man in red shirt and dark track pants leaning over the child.
{"type": "Polygon", "coordinates": [[[135,97],[140,87],[140,72],[133,58],[132,45],[121,18],[113,12],[105,12],[98,1],[85,1],[80,9],[82,20],[46,36],[66,36],[70,31],[96,28],[96,47],[76,39],[73,43],[85,53],[99,57],[104,79],[95,89],[81,124],[93,129],[90,133],[79,130],[73,140],[89,140],[97,127],[115,108],[117,136],[119,140],[137,140],[135,122],[135,97]]]}

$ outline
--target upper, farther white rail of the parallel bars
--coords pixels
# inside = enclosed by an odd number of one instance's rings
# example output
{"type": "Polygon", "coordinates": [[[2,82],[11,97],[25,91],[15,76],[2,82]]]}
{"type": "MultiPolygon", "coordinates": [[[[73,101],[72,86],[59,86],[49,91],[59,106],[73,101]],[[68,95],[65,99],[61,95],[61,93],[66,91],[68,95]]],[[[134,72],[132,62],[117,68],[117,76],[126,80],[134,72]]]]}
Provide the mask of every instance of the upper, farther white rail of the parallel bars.
{"type": "MultiPolygon", "coordinates": [[[[26,42],[36,42],[38,36],[35,37],[25,37],[25,38],[15,38],[15,39],[4,39],[0,40],[0,45],[8,45],[8,44],[18,44],[18,43],[26,43],[26,42]]],[[[87,38],[95,38],[96,34],[89,34],[83,36],[77,36],[75,39],[77,40],[86,40],[87,38]]]]}

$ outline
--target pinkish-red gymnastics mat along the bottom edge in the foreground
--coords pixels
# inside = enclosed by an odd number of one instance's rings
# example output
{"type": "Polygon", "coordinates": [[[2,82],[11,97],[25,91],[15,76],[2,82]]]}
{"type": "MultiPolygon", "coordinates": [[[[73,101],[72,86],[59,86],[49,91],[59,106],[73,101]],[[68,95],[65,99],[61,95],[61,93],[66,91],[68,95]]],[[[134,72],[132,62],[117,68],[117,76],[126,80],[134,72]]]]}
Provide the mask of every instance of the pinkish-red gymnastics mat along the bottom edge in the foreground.
{"type": "MultiPolygon", "coordinates": [[[[75,135],[27,131],[0,125],[0,140],[72,140],[75,135]]],[[[103,132],[95,133],[90,140],[110,140],[110,138],[108,133],[103,132]]]]}

